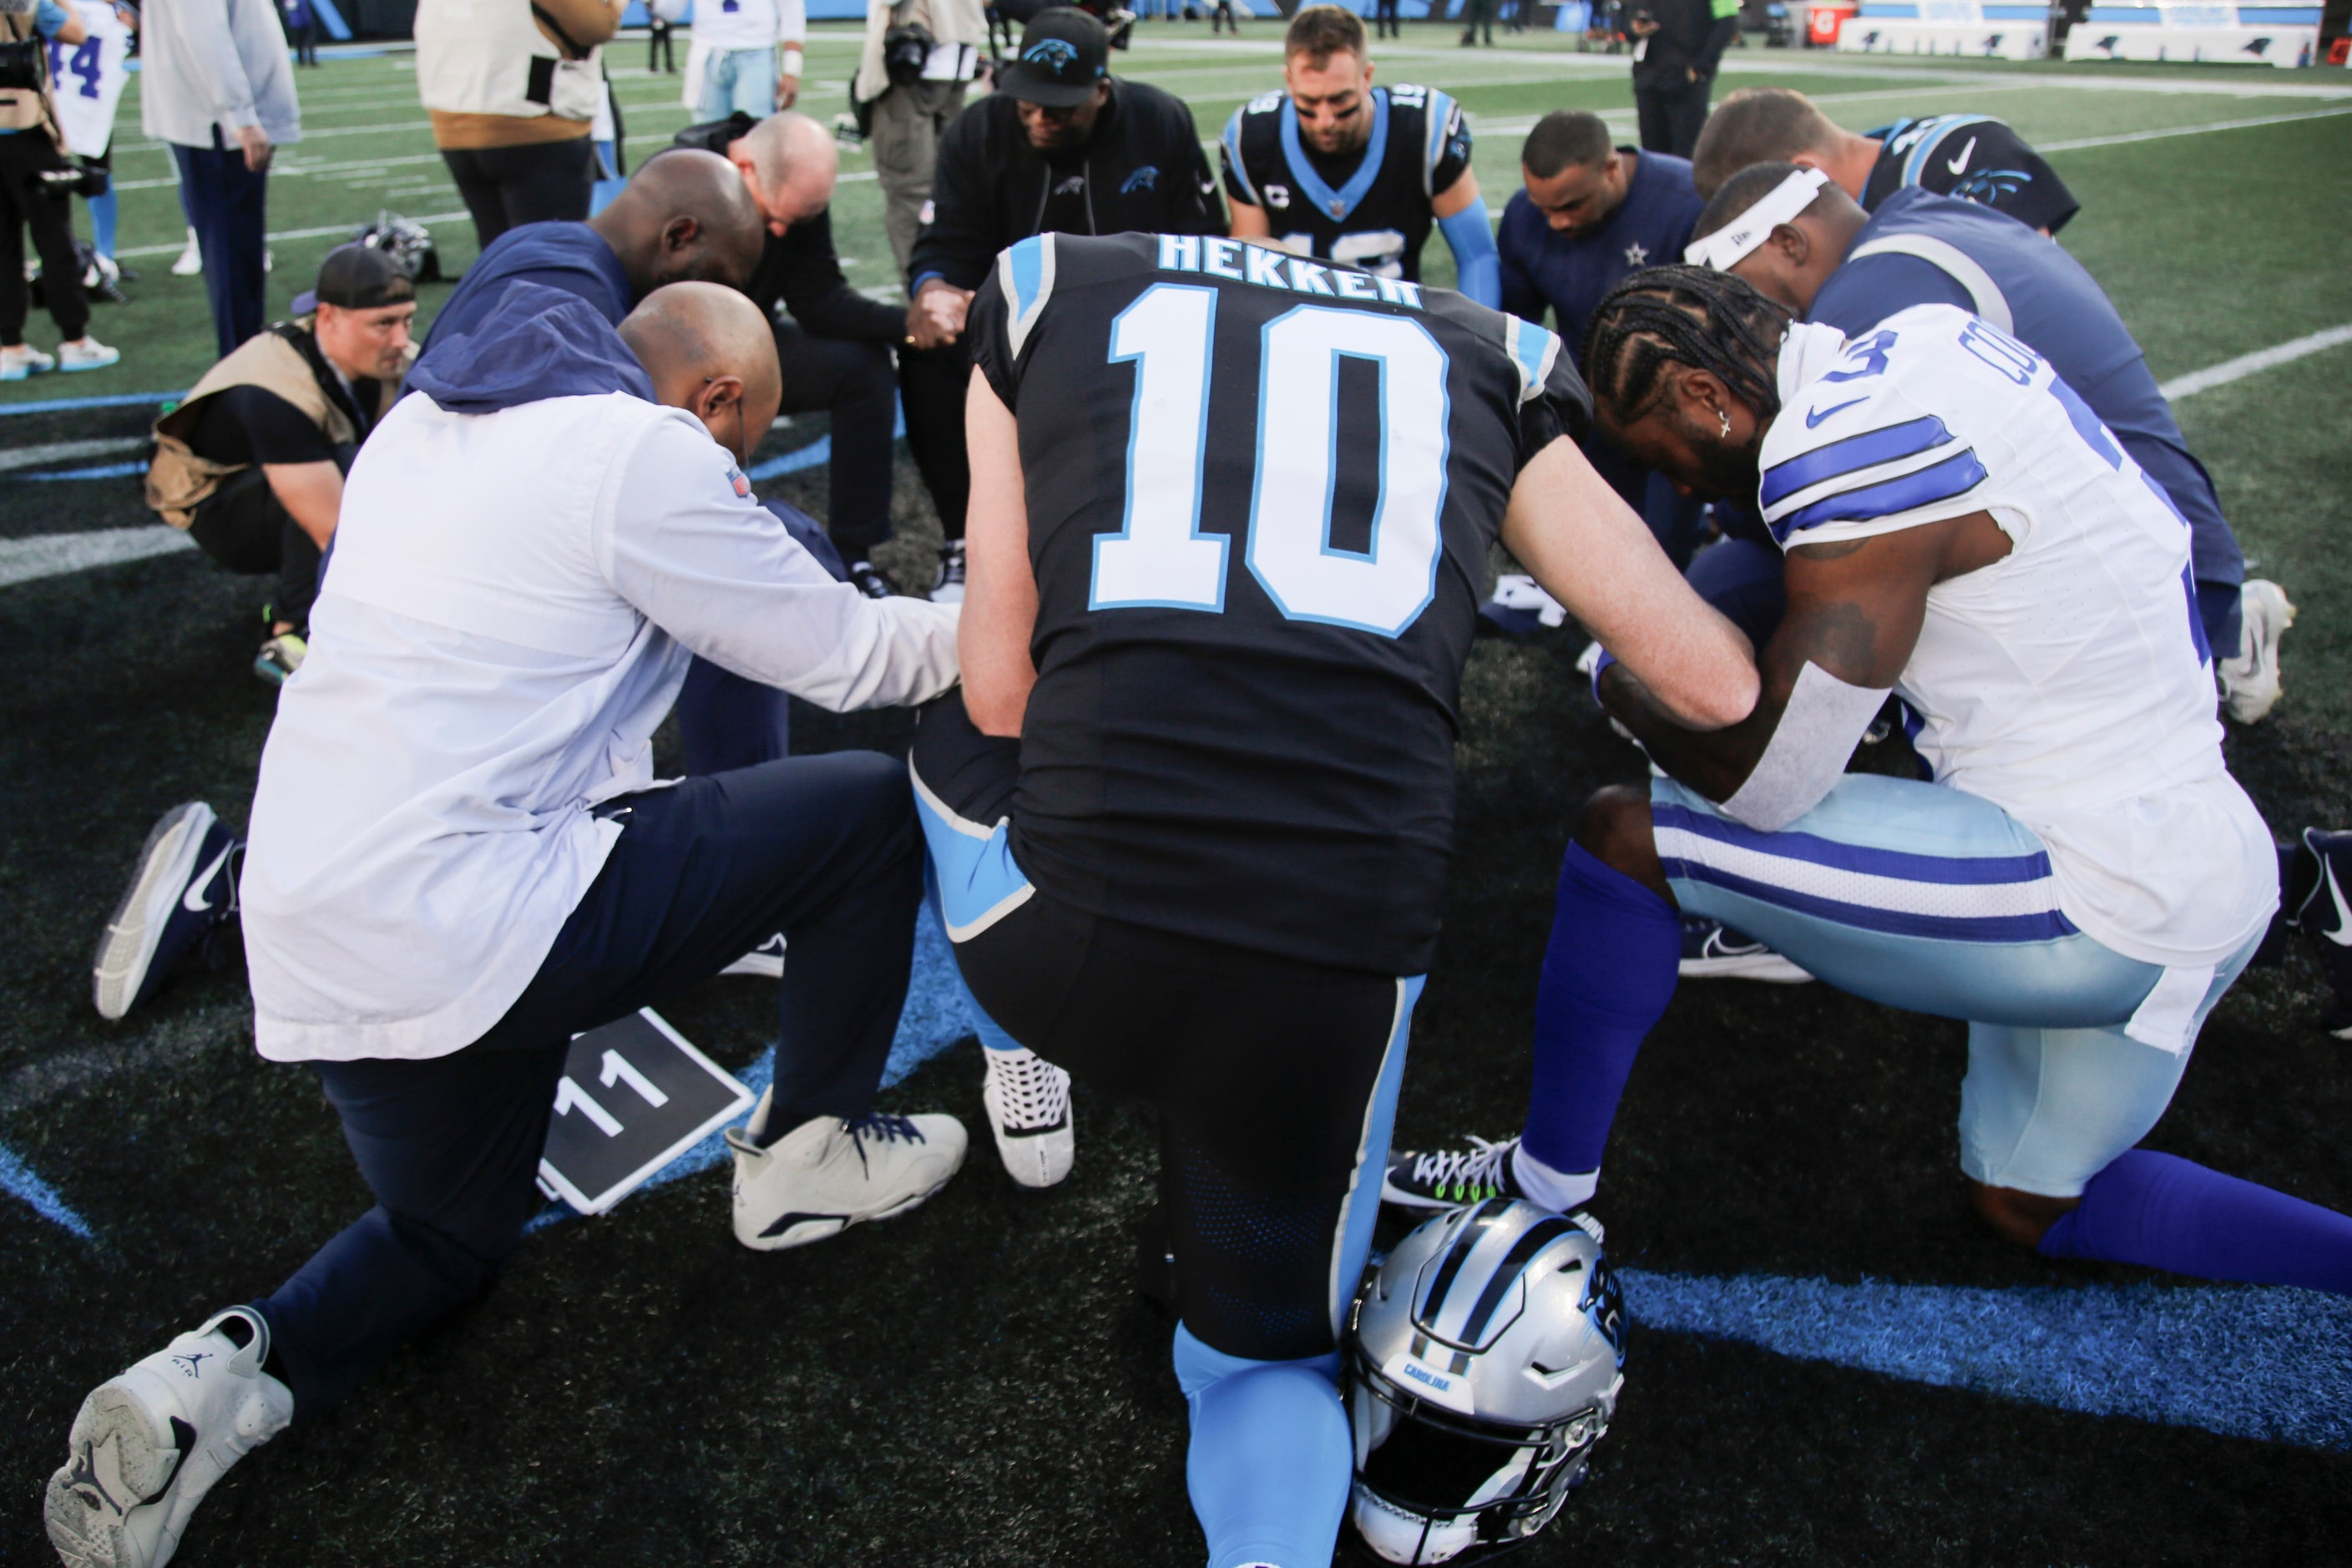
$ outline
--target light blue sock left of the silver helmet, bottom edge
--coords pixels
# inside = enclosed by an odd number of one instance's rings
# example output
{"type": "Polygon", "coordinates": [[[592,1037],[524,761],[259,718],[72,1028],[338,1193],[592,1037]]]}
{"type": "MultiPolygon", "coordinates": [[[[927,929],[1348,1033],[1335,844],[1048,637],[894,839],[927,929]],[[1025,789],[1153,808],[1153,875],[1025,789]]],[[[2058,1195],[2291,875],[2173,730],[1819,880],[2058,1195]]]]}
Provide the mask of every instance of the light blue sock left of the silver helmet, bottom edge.
{"type": "Polygon", "coordinates": [[[1185,1483],[1209,1568],[1324,1568],[1348,1516],[1355,1441],[1338,1354],[1244,1361],[1176,1326],[1176,1382],[1192,1410],[1185,1483]]]}

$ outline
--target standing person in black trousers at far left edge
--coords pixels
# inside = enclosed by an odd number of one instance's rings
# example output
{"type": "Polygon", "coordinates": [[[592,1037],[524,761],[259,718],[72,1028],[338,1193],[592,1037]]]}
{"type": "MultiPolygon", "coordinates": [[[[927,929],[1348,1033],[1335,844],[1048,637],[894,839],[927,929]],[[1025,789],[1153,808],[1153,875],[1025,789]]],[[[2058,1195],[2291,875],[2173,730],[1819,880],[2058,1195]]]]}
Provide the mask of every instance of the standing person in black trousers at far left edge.
{"type": "Polygon", "coordinates": [[[73,254],[71,193],[82,172],[66,162],[49,94],[49,40],[78,45],[82,24],[52,0],[0,0],[0,381],[45,369],[101,369],[122,355],[89,336],[82,261],[73,254]],[[40,254],[42,294],[56,317],[56,355],[24,341],[31,294],[24,230],[40,254]]]}

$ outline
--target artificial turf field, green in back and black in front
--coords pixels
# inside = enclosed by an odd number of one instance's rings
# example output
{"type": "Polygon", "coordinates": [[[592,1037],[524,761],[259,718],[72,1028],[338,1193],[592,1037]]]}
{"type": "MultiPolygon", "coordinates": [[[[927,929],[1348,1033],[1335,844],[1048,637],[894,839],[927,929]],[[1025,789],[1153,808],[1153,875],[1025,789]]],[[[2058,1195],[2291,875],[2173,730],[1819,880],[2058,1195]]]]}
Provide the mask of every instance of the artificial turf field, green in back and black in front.
{"type": "MultiPolygon", "coordinates": [[[[1183,49],[1164,42],[1181,28],[1143,31],[1148,47],[1122,68],[1185,92],[1204,134],[1272,80],[1272,26],[1254,26],[1240,47],[1204,47],[1195,33],[1183,49]]],[[[1536,42],[1458,52],[1451,33],[1414,28],[1406,49],[1381,52],[1383,80],[1458,89],[1486,127],[1562,103],[1625,115],[1623,61],[1536,42]]],[[[811,78],[833,78],[811,99],[840,94],[851,49],[842,33],[811,45],[811,78]]],[[[614,59],[640,56],[623,47],[614,59]]],[[[619,80],[640,150],[684,122],[675,78],[619,80]]],[[[2044,148],[2328,113],[2051,158],[2084,200],[2065,244],[2117,296],[2159,376],[2352,320],[2352,284],[2333,261],[2352,214],[2352,120],[2331,113],[2352,103],[2237,96],[2340,75],[1733,56],[1726,85],[1762,80],[1802,85],[1856,127],[1983,103],[2044,148]],[[2096,85],[2077,85],[2086,78],[2096,85]]],[[[400,56],[334,61],[301,85],[306,127],[350,134],[289,148],[273,179],[273,228],[358,223],[383,205],[456,212],[400,56]],[[395,158],[416,162],[383,162],[395,158]],[[362,167],[294,174],[299,162],[362,167]]],[[[125,125],[136,125],[134,101],[125,125]]],[[[160,249],[141,259],[136,301],[101,306],[94,322],[125,364],[0,388],[0,451],[136,437],[151,409],[7,407],[179,390],[209,360],[195,280],[162,270],[179,240],[172,190],[139,186],[165,162],[136,141],[127,134],[118,158],[125,247],[160,249]]],[[[1479,143],[1496,207],[1515,146],[1510,129],[1479,143]]],[[[847,174],[866,169],[863,158],[844,160],[847,174]]],[[[889,287],[870,181],[844,181],[837,223],[854,280],[889,287]]],[[[470,256],[468,226],[433,228],[456,270],[470,256]]],[[[273,299],[292,294],[329,242],[280,240],[273,299]]],[[[1442,247],[1430,263],[1444,277],[1442,247]]],[[[426,299],[430,308],[445,289],[426,299]]],[[[35,320],[35,341],[42,329],[35,320]]],[[[2232,766],[2281,835],[2352,823],[2352,625],[2338,550],[2352,503],[2345,355],[2352,348],[2180,404],[2258,571],[2303,607],[2286,642],[2288,698],[2265,724],[2230,731],[2232,766]]],[[[821,418],[779,430],[769,451],[821,430],[821,418]]],[[[148,522],[136,480],[24,473],[0,475],[0,543],[148,522]]],[[[818,515],[823,489],[821,468],[764,487],[818,515]]],[[[906,465],[898,505],[906,538],[884,564],[915,583],[936,520],[906,465]]],[[[80,1239],[0,1197],[0,1495],[16,1500],[0,1512],[0,1561],[42,1561],[40,1486],[94,1382],[216,1305],[268,1291],[367,1204],[313,1079],[252,1053],[235,973],[181,978],[122,1025],[89,1009],[87,954],[153,816],[191,797],[230,823],[245,816],[270,719],[268,689],[245,675],[263,592],[195,555],[0,588],[0,896],[12,910],[0,947],[0,1150],[92,1232],[80,1239]]],[[[1583,698],[1573,654],[1562,632],[1482,642],[1472,656],[1458,856],[1399,1112],[1406,1145],[1517,1126],[1559,849],[1595,785],[1642,771],[1583,698]]],[[[903,736],[901,715],[800,715],[804,748],[894,748],[903,736]]],[[[2352,1070],[2345,1046],[2314,1027],[2321,994],[2300,952],[2249,976],[2209,1023],[2150,1145],[2352,1208],[2340,1138],[2352,1070]]],[[[774,1034],[774,994],[760,980],[715,980],[666,1013],[736,1067],[774,1034]]],[[[1955,1171],[1962,1065],[1952,1023],[1825,987],[1684,987],[1611,1145],[1599,1206],[1611,1255],[1656,1276],[2016,1291],[2020,1340],[2037,1328],[2034,1288],[2185,1288],[2133,1269],[2046,1265],[1983,1232],[1955,1171]]],[[[953,1110],[978,1131],[969,1046],[884,1103],[953,1110]]],[[[927,1208],[786,1255],[731,1241],[717,1175],[550,1227],[480,1307],[230,1474],[176,1561],[1197,1563],[1169,1324],[1129,1284],[1127,1232],[1150,1201],[1152,1135],[1141,1112],[1084,1088],[1077,1124],[1077,1173],[1054,1192],[1014,1190],[981,1140],[927,1208]]],[[[1644,1328],[1639,1302],[1635,1291],[1618,1425],[1592,1483],[1526,1563],[2343,1554],[2343,1446],[1929,1387],[1644,1328]]],[[[2321,1392],[2352,1387],[2340,1356],[2314,1356],[2310,1378],[2321,1392]]],[[[2227,1392],[2227,1368],[2218,1382],[2227,1392]]]]}

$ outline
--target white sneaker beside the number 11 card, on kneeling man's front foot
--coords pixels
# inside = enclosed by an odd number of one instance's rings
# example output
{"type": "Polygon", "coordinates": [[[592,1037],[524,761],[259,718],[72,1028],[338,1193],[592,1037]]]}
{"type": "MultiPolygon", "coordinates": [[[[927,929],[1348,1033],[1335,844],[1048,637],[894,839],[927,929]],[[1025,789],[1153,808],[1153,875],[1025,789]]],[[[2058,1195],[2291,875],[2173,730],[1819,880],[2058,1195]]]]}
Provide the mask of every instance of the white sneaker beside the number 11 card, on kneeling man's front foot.
{"type": "Polygon", "coordinates": [[[736,1241],[762,1253],[906,1213],[964,1164],[964,1124],[955,1117],[816,1117],[762,1150],[774,1093],[760,1093],[750,1124],[727,1128],[736,1241]]]}

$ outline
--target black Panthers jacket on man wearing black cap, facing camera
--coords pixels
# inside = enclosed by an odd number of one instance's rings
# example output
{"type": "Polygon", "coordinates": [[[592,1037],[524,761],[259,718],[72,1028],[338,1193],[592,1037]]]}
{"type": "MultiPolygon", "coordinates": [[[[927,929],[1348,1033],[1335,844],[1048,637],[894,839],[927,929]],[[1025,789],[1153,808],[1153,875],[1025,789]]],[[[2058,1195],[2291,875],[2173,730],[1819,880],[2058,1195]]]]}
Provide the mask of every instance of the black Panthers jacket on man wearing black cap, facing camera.
{"type": "Polygon", "coordinates": [[[924,277],[978,289],[1000,249],[1044,233],[1047,202],[1070,179],[1084,181],[1077,207],[1087,214],[1084,228],[1063,226],[1070,233],[1225,233],[1225,205],[1183,99],[1112,80],[1087,146],[1047,162],[1021,129],[1018,103],[993,92],[938,139],[931,221],[915,237],[910,292],[924,277]]]}

